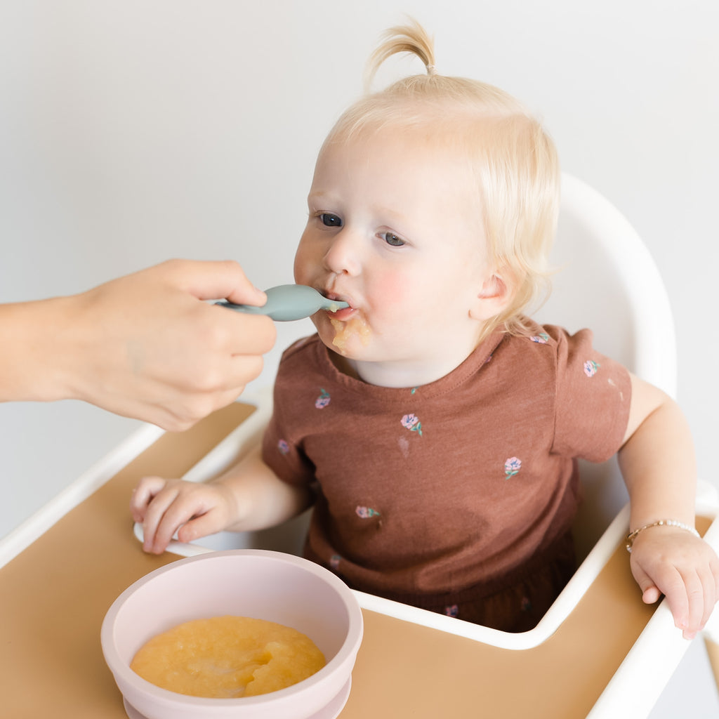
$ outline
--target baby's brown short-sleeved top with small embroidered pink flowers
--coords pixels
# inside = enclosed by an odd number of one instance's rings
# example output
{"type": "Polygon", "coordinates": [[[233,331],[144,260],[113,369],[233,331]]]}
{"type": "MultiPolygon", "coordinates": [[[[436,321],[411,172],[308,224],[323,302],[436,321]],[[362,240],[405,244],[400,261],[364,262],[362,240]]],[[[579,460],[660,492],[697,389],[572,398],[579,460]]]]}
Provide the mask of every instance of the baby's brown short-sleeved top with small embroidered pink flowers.
{"type": "Polygon", "coordinates": [[[350,585],[455,592],[569,531],[574,459],[617,452],[630,395],[588,330],[496,332],[449,375],[402,389],[342,374],[314,335],[283,354],[263,457],[316,488],[308,554],[350,585]]]}

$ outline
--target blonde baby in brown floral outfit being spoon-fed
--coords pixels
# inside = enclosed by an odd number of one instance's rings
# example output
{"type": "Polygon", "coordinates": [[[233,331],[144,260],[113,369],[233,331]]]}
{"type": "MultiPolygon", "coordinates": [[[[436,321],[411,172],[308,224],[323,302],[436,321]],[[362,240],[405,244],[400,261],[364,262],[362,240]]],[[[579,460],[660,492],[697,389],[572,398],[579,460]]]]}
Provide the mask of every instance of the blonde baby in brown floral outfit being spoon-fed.
{"type": "Polygon", "coordinates": [[[145,549],[284,521],[313,504],[306,557],[350,586],[504,631],[536,625],[574,572],[577,457],[619,454],[631,568],[691,638],[719,562],[694,530],[676,404],[525,312],[546,285],[559,164],[508,94],[426,73],[350,107],[319,152],[295,279],[349,308],[285,351],[262,447],[209,484],[146,477],[145,549]],[[671,524],[665,521],[671,520],[671,524]]]}

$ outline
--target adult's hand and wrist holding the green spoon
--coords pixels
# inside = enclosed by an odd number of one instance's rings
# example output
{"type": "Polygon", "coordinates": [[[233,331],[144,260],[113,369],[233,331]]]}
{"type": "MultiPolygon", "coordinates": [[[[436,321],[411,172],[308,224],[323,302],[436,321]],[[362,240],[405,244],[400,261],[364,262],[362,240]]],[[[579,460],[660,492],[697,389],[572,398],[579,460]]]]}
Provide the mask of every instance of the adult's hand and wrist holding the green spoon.
{"type": "Polygon", "coordinates": [[[0,308],[0,399],[86,400],[183,430],[262,370],[273,321],[204,300],[262,305],[236,262],[170,260],[85,293],[0,308]],[[4,349],[5,352],[5,349],[4,349]]]}

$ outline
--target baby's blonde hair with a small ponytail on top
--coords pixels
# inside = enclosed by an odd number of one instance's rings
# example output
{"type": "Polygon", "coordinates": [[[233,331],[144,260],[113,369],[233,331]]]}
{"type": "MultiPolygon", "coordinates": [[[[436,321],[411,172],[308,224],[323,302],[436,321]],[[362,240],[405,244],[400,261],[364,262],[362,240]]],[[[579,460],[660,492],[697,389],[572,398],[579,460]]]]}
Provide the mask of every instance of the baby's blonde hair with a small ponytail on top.
{"type": "Polygon", "coordinates": [[[343,142],[383,127],[418,127],[466,153],[476,179],[487,259],[507,280],[508,306],[486,332],[526,331],[523,311],[549,293],[549,249],[559,211],[557,150],[539,120],[513,96],[487,83],[436,73],[434,42],[414,20],[388,29],[367,63],[365,96],[347,109],[325,141],[343,142]],[[368,88],[385,60],[416,55],[426,73],[376,93],[368,88]]]}

